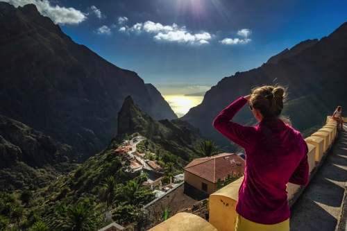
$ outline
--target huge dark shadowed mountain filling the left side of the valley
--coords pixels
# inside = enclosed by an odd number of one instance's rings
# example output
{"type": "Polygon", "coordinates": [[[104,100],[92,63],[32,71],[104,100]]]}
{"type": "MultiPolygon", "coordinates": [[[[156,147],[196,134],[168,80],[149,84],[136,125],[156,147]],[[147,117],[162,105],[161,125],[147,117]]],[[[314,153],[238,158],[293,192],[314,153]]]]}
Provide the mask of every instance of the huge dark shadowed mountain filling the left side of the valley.
{"type": "Polygon", "coordinates": [[[0,2],[0,114],[87,157],[117,134],[117,112],[128,95],[154,119],[174,118],[150,88],[134,71],[76,44],[35,5],[0,2]]]}

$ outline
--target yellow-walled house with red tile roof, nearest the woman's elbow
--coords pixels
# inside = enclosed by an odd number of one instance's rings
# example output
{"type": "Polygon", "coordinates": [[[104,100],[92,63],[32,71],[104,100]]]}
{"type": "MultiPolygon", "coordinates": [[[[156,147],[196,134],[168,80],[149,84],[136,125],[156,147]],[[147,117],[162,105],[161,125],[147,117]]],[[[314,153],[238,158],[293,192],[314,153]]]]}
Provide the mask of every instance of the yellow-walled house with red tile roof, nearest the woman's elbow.
{"type": "Polygon", "coordinates": [[[243,174],[245,161],[233,153],[221,153],[212,157],[198,158],[185,166],[185,183],[196,189],[213,194],[217,189],[217,182],[221,183],[228,175],[243,174]]]}

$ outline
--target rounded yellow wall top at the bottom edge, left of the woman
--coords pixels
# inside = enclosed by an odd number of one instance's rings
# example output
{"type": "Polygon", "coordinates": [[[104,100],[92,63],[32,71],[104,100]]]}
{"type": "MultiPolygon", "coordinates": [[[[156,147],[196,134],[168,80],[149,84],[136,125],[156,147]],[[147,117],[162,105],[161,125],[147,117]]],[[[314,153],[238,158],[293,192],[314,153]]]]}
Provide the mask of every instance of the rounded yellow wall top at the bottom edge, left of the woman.
{"type": "Polygon", "coordinates": [[[167,221],[151,228],[149,231],[217,231],[208,221],[200,216],[180,212],[175,216],[171,216],[167,221]]]}

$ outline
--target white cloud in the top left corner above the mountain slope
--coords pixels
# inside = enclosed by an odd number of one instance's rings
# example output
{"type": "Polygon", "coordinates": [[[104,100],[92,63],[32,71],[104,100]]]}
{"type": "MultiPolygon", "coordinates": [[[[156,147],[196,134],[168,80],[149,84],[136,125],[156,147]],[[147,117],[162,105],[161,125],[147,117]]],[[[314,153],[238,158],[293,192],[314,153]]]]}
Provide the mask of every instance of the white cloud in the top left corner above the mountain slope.
{"type": "Polygon", "coordinates": [[[79,24],[85,19],[86,15],[80,10],[74,8],[65,8],[58,5],[52,6],[48,0],[1,0],[12,4],[15,7],[24,6],[33,3],[39,12],[47,17],[50,17],[56,24],[79,24]]]}

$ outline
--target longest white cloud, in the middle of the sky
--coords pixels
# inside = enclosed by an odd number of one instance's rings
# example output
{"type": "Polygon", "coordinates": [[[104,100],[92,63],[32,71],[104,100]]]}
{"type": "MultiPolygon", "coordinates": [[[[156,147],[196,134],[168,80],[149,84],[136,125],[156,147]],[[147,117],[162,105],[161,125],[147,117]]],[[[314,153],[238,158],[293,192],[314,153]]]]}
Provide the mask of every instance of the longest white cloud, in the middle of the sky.
{"type": "Polygon", "coordinates": [[[137,23],[130,28],[121,29],[121,31],[154,34],[154,40],[184,42],[194,45],[209,44],[208,40],[211,40],[213,37],[213,35],[204,31],[195,34],[191,33],[187,31],[185,26],[178,26],[177,24],[172,24],[172,26],[163,26],[160,23],[154,23],[151,21],[144,22],[143,24],[137,23]]]}

